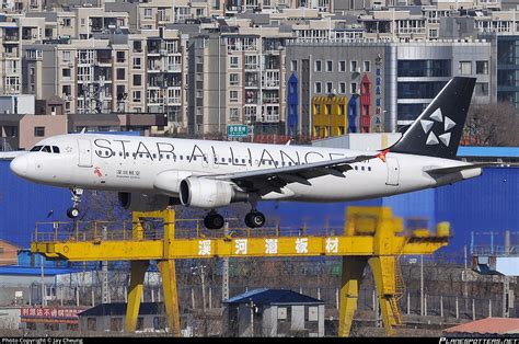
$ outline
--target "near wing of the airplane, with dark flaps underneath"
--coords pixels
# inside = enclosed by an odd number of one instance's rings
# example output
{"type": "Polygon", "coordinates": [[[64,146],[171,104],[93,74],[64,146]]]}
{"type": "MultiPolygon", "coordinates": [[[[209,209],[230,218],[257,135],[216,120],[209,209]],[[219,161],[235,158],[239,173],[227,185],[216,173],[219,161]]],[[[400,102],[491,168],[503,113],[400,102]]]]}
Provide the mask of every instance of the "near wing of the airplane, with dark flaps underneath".
{"type": "Polygon", "coordinates": [[[246,192],[258,192],[261,194],[268,194],[269,192],[280,193],[280,188],[288,183],[311,185],[312,183],[310,180],[321,175],[335,175],[338,177],[344,177],[343,172],[353,169],[349,165],[350,163],[366,161],[377,157],[378,156],[358,156],[292,167],[198,176],[232,181],[238,186],[244,188],[246,192]]]}

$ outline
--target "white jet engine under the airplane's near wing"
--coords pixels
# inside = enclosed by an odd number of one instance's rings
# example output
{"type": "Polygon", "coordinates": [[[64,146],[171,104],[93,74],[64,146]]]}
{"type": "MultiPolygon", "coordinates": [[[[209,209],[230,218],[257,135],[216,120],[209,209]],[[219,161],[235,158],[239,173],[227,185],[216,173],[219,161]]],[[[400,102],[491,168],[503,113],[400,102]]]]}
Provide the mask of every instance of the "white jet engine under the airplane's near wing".
{"type": "Polygon", "coordinates": [[[246,202],[249,195],[229,182],[189,176],[181,182],[183,205],[197,208],[224,207],[234,202],[246,202]]]}

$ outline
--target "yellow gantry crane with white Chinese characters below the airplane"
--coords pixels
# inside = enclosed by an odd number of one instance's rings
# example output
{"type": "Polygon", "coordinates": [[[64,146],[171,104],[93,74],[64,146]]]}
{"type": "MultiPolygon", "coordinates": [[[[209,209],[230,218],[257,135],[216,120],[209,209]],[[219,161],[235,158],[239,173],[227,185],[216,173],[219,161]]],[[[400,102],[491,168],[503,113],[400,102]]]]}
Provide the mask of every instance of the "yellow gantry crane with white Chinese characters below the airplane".
{"type": "Polygon", "coordinates": [[[348,336],[351,328],[359,285],[366,265],[373,273],[382,320],[388,335],[394,335],[395,325],[402,324],[397,298],[402,295],[400,256],[431,254],[447,245],[449,223],[440,222],[431,234],[420,229],[403,234],[402,218],[394,217],[389,207],[348,207],[344,233],[339,236],[280,236],[257,237],[254,233],[222,236],[221,238],[182,239],[175,236],[173,209],[154,213],[134,213],[130,230],[115,230],[102,234],[94,226],[88,234],[76,231],[62,233],[55,226],[51,232],[36,229],[31,244],[32,253],[71,262],[130,261],[131,276],[126,312],[126,331],[137,325],[142,284],[151,260],[158,262],[162,277],[164,305],[169,329],[180,336],[180,313],[175,277],[175,260],[250,256],[342,256],[343,276],[339,293],[339,336],[348,336]],[[149,218],[163,220],[163,236],[149,234],[143,222],[149,218]]]}

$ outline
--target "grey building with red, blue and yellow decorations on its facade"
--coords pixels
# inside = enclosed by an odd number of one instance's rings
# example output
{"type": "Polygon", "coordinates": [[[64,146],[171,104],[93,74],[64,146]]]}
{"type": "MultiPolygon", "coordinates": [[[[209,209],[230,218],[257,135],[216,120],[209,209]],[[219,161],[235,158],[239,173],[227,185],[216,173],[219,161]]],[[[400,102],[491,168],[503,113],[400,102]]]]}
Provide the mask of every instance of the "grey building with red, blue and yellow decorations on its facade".
{"type": "MultiPolygon", "coordinates": [[[[313,118],[323,96],[347,98],[347,127],[344,133],[371,133],[384,127],[387,121],[387,79],[391,77],[390,54],[383,43],[356,43],[355,41],[301,42],[287,44],[286,80],[292,76],[299,81],[299,134],[322,137],[322,129],[313,118]]],[[[332,112],[331,112],[332,114],[332,112]]],[[[335,113],[333,113],[335,114],[335,113]]],[[[346,119],[346,118],[345,118],[346,119]]],[[[321,121],[322,122],[322,121],[321,121]]],[[[344,126],[344,124],[343,124],[344,126]]],[[[390,126],[388,124],[388,126],[390,126]]],[[[337,128],[341,130],[341,128],[337,128]]],[[[324,133],[332,133],[332,128],[324,133]]],[[[337,131],[338,133],[338,131],[337,131]]]]}

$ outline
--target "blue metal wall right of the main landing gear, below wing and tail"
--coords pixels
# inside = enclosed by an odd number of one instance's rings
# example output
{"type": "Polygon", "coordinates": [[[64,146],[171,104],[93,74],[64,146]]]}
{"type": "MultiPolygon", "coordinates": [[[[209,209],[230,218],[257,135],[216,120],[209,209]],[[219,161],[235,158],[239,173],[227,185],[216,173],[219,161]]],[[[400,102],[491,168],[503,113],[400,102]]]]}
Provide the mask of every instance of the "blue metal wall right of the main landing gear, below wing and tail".
{"type": "MultiPolygon", "coordinates": [[[[281,226],[343,226],[348,205],[390,206],[404,218],[428,218],[431,229],[439,221],[451,223],[452,238],[443,250],[470,244],[471,231],[519,231],[519,169],[485,168],[482,176],[434,190],[372,199],[335,204],[265,203],[260,209],[281,226]],[[304,219],[304,220],[303,220],[304,219]]],[[[407,221],[410,225],[410,221],[407,221]]]]}

